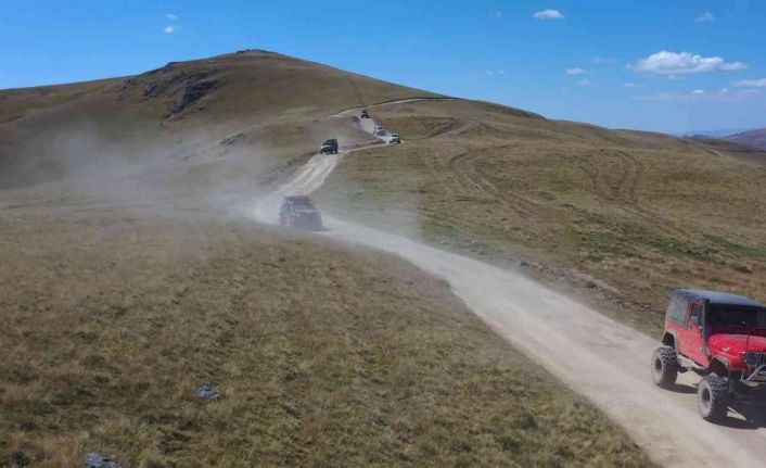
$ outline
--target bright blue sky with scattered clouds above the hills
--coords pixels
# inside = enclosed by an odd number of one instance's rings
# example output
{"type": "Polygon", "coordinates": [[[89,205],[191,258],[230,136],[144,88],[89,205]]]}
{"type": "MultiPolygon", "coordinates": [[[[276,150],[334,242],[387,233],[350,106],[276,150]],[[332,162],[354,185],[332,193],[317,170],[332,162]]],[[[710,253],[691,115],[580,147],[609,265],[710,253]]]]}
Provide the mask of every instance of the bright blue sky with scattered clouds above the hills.
{"type": "Polygon", "coordinates": [[[259,48],[552,118],[739,129],[766,127],[765,28],[763,0],[0,0],[0,89],[259,48]]]}

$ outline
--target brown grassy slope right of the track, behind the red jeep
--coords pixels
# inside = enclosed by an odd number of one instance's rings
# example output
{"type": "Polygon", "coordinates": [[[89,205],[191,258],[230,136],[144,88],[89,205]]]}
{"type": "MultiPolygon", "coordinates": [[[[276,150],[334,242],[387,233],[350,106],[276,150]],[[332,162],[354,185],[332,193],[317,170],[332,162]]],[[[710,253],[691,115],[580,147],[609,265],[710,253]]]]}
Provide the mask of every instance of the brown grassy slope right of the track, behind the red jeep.
{"type": "Polygon", "coordinates": [[[586,291],[648,331],[674,288],[766,300],[764,152],[465,101],[373,117],[407,143],[342,163],[320,194],[341,216],[586,291]]]}

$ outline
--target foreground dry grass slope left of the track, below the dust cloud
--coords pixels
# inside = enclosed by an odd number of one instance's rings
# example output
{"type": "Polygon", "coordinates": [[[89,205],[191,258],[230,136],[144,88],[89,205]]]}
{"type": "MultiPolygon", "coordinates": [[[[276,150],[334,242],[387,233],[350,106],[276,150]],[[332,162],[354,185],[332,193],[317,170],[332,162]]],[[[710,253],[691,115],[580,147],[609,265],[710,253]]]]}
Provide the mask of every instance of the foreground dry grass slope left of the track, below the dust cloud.
{"type": "Polygon", "coordinates": [[[1,466],[651,465],[403,261],[80,208],[0,211],[1,466]]]}

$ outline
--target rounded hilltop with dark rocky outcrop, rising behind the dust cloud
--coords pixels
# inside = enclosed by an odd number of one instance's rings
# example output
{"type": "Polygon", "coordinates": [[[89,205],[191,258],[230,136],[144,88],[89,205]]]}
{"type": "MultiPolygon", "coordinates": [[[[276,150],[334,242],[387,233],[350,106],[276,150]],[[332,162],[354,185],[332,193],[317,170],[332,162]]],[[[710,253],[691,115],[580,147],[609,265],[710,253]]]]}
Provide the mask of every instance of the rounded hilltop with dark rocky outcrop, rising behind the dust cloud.
{"type": "Polygon", "coordinates": [[[268,181],[324,138],[367,141],[330,114],[422,96],[434,94],[259,51],[0,91],[0,189],[189,165],[219,186],[268,181]]]}

